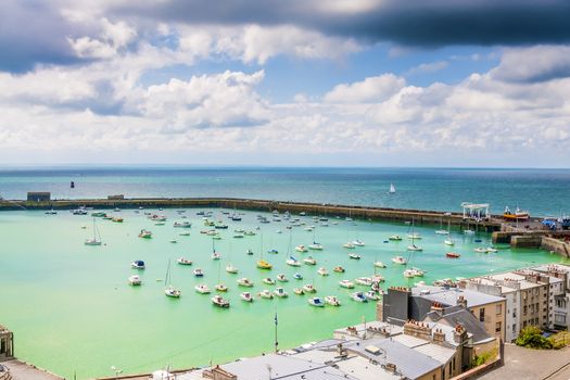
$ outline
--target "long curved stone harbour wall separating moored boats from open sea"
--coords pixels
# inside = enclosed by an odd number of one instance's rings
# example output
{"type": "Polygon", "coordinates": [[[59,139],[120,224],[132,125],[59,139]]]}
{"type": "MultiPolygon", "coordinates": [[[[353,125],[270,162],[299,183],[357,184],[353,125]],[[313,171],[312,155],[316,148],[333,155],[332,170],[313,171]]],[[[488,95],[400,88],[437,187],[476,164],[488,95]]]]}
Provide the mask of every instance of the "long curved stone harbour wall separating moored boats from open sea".
{"type": "Polygon", "coordinates": [[[306,202],[280,202],[268,200],[253,199],[233,199],[233,198],[177,198],[177,199],[88,199],[88,200],[53,200],[49,202],[28,202],[28,201],[1,201],[0,210],[73,210],[80,206],[93,208],[159,208],[159,207],[224,207],[237,210],[253,210],[270,212],[290,212],[299,214],[304,212],[309,215],[320,215],[326,217],[353,217],[370,220],[395,220],[410,221],[416,224],[446,224],[449,221],[454,226],[460,226],[482,230],[494,231],[501,229],[501,220],[466,220],[460,213],[444,215],[438,211],[405,210],[405,208],[385,208],[385,207],[367,207],[355,205],[340,204],[318,204],[306,202]]]}

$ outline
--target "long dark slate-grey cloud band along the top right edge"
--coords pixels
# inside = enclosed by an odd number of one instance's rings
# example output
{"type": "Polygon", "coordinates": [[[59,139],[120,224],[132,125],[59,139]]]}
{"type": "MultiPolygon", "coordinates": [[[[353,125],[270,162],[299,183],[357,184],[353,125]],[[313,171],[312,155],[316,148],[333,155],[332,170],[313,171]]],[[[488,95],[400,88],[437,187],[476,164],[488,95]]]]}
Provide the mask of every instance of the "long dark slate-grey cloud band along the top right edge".
{"type": "Polygon", "coordinates": [[[568,0],[384,0],[363,12],[331,9],[332,2],[321,0],[165,0],[129,2],[115,11],[194,24],[293,24],[414,47],[570,41],[568,0]]]}

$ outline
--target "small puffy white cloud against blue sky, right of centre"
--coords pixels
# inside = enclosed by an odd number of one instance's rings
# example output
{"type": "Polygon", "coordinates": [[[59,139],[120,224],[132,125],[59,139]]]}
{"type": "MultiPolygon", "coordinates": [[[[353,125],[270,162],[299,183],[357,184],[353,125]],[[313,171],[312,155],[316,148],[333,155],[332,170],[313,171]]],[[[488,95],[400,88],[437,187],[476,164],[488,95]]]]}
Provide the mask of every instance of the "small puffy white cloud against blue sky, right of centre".
{"type": "Polygon", "coordinates": [[[404,78],[394,74],[383,74],[354,84],[338,85],[327,92],[324,99],[330,103],[381,102],[400,91],[405,85],[404,78]]]}

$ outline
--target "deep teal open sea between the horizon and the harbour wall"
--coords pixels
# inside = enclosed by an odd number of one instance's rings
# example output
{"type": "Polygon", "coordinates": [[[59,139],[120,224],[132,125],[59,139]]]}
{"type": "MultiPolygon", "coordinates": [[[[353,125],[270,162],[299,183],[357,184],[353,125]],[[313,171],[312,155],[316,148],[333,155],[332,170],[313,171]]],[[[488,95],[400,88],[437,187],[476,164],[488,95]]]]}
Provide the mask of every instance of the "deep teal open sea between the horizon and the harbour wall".
{"type": "Polygon", "coordinates": [[[532,215],[570,213],[569,169],[37,167],[0,169],[0,195],[54,198],[236,197],[460,211],[464,201],[532,215]],[[69,189],[74,180],[75,189],[69,189]],[[389,195],[390,183],[397,193],[389,195]]]}

